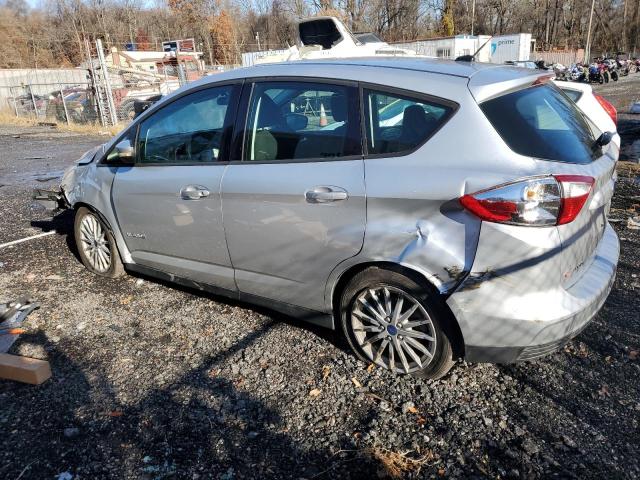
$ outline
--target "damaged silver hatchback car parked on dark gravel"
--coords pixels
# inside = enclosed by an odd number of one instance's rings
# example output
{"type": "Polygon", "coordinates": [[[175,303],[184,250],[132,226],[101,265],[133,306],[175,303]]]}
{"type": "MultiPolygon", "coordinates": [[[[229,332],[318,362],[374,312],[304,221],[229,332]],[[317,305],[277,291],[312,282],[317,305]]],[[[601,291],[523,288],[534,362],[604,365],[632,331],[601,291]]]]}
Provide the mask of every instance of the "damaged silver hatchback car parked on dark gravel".
{"type": "Polygon", "coordinates": [[[577,335],[611,289],[617,147],[541,72],[410,57],[202,79],[62,181],[92,272],[337,328],[443,376],[577,335]]]}

